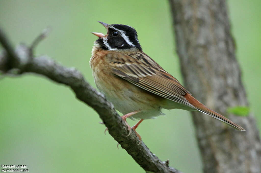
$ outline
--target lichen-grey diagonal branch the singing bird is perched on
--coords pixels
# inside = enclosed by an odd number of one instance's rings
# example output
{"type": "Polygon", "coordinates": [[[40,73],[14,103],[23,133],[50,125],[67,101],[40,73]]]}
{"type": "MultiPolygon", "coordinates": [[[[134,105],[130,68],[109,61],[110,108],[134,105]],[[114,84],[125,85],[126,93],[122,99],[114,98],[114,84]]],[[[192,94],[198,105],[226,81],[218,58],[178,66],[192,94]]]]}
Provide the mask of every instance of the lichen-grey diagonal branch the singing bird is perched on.
{"type": "Polygon", "coordinates": [[[20,44],[14,51],[7,37],[0,29],[0,42],[5,49],[0,54],[0,71],[10,74],[13,69],[18,69],[20,74],[32,72],[48,77],[52,81],[68,85],[75,93],[76,97],[92,107],[100,116],[103,123],[109,130],[109,134],[125,149],[129,155],[146,172],[170,172],[181,173],[180,171],[168,167],[168,162],[162,162],[155,156],[147,146],[141,142],[132,130],[128,135],[128,128],[117,114],[112,103],[97,92],[84,79],[83,75],[75,68],[64,67],[48,56],[33,57],[32,49],[41,39],[46,36],[45,31],[41,33],[33,42],[31,47],[20,44]]]}

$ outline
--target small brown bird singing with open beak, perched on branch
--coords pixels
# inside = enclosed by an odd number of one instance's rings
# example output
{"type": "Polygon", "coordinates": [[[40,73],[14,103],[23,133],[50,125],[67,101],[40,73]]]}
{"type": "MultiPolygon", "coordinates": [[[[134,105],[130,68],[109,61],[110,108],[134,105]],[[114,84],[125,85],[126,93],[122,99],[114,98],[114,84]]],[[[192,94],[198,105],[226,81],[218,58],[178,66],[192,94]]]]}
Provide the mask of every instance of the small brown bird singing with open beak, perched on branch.
{"type": "Polygon", "coordinates": [[[133,129],[140,141],[136,128],[144,119],[163,115],[162,108],[200,111],[245,131],[192,97],[175,77],[145,54],[134,28],[99,23],[107,29],[107,34],[92,32],[99,37],[94,42],[90,59],[95,84],[123,114],[129,131],[133,129]],[[126,121],[128,117],[140,121],[131,128],[126,121]]]}

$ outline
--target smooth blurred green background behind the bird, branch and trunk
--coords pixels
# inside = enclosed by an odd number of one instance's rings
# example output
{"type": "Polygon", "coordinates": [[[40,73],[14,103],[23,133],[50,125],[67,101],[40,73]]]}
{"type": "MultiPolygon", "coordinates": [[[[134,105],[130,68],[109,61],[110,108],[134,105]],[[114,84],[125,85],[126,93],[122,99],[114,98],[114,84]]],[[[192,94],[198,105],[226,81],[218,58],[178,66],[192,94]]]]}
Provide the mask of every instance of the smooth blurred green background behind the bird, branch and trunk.
{"type": "MultiPolygon", "coordinates": [[[[261,1],[230,0],[228,6],[243,82],[260,128],[261,1]]],[[[51,26],[35,54],[76,67],[93,87],[89,59],[97,37],[90,32],[105,33],[97,21],[133,26],[144,52],[182,82],[168,1],[0,0],[0,26],[14,45],[30,44],[51,26]]],[[[117,149],[108,133],[104,135],[97,113],[67,86],[26,74],[2,78],[0,95],[0,164],[24,164],[29,172],[144,172],[124,149],[117,149]]],[[[189,112],[164,112],[166,116],[139,126],[143,142],[161,160],[169,159],[170,166],[202,172],[189,112]]]]}

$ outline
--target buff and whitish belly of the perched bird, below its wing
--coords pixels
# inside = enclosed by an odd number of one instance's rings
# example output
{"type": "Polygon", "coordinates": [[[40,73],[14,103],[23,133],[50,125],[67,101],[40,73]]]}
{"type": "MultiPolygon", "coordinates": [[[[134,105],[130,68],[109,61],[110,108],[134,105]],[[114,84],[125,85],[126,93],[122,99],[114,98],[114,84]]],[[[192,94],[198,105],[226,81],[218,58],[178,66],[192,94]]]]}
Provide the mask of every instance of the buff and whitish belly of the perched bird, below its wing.
{"type": "Polygon", "coordinates": [[[132,118],[149,119],[162,115],[158,103],[164,99],[163,97],[141,89],[120,77],[104,74],[101,76],[97,73],[93,76],[99,91],[123,115],[137,110],[140,110],[140,112],[134,114],[132,118]]]}

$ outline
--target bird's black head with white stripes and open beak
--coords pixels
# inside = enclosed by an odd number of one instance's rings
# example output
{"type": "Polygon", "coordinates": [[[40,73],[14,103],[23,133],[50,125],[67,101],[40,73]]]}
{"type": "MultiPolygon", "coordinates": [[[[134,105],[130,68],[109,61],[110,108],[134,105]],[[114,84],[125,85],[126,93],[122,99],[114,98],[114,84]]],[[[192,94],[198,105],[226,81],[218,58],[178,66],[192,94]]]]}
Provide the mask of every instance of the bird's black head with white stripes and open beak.
{"type": "Polygon", "coordinates": [[[105,50],[122,50],[137,48],[141,49],[137,31],[128,25],[113,24],[109,25],[103,22],[101,23],[106,29],[107,34],[104,35],[98,32],[92,32],[92,34],[99,37],[98,40],[94,42],[96,46],[105,50]]]}

